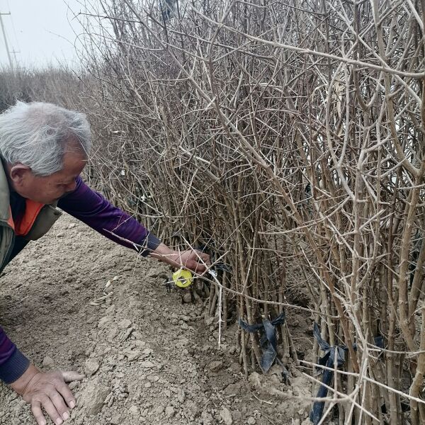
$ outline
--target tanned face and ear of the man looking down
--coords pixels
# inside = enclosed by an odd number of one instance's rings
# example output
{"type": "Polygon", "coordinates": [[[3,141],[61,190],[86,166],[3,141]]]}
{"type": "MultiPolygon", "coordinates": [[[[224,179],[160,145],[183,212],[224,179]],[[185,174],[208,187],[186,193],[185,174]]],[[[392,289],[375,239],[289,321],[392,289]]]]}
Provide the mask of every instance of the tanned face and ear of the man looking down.
{"type": "Polygon", "coordinates": [[[63,169],[45,177],[35,176],[27,166],[16,164],[8,171],[9,181],[23,198],[50,204],[75,190],[77,177],[86,162],[86,156],[82,152],[66,152],[63,169]]]}

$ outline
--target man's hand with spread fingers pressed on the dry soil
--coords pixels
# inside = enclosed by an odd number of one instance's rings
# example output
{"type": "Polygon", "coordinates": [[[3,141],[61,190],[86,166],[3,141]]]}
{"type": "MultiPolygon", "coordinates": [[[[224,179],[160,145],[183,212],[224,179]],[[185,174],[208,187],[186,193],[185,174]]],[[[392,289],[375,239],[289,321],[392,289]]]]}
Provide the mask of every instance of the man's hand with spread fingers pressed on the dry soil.
{"type": "Polygon", "coordinates": [[[69,409],[75,407],[76,399],[65,382],[82,380],[84,375],[76,372],[43,373],[34,365],[11,383],[13,390],[31,404],[31,411],[38,425],[46,425],[42,407],[56,425],[69,418],[69,409]]]}

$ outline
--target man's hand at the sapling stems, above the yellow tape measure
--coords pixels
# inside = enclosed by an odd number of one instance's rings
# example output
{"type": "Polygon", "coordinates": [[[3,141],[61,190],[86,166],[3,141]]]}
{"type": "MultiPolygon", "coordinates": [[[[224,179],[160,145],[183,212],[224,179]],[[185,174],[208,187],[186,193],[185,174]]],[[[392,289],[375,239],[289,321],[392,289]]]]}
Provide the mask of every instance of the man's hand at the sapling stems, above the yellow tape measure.
{"type": "Polygon", "coordinates": [[[186,251],[173,251],[165,244],[160,244],[150,256],[155,259],[169,263],[171,266],[177,268],[188,268],[188,270],[195,271],[202,274],[207,270],[206,266],[211,265],[210,256],[205,252],[198,251],[198,249],[187,249],[186,251]]]}

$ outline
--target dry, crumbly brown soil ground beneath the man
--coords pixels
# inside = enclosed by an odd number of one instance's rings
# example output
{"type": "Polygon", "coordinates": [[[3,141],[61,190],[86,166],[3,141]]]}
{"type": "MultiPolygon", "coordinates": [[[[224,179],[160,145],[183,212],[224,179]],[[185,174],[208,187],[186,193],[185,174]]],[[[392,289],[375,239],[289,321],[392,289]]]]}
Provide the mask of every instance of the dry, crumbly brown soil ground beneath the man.
{"type": "MultiPolygon", "coordinates": [[[[287,386],[277,366],[245,380],[237,325],[219,348],[216,319],[167,293],[167,276],[66,215],[4,270],[0,323],[11,339],[43,370],[86,374],[70,385],[77,407],[65,424],[309,423],[309,380],[292,368],[287,386]]],[[[0,424],[35,424],[3,384],[0,424]]]]}

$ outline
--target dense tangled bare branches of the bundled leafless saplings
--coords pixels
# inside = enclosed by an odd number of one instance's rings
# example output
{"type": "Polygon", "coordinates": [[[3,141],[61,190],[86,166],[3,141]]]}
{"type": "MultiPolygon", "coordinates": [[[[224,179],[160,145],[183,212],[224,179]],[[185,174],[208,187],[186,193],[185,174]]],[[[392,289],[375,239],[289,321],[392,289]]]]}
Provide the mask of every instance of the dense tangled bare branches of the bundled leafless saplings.
{"type": "MultiPolygon", "coordinates": [[[[170,244],[232,267],[224,323],[277,317],[300,266],[322,337],[347,348],[327,409],[340,423],[425,421],[416,3],[111,0],[86,15],[103,185],[170,244]]],[[[237,339],[248,373],[259,343],[237,339]]]]}

